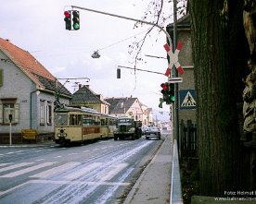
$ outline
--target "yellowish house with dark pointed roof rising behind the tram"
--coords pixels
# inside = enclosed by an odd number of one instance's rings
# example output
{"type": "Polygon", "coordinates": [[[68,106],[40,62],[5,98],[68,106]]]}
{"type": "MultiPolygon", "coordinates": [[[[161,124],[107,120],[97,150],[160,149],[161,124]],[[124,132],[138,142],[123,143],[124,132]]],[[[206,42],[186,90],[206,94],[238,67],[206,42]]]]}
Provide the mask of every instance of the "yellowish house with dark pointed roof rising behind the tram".
{"type": "Polygon", "coordinates": [[[101,94],[91,90],[89,85],[79,84],[79,90],[73,93],[71,103],[93,108],[102,114],[109,114],[109,102],[104,101],[101,94]]]}

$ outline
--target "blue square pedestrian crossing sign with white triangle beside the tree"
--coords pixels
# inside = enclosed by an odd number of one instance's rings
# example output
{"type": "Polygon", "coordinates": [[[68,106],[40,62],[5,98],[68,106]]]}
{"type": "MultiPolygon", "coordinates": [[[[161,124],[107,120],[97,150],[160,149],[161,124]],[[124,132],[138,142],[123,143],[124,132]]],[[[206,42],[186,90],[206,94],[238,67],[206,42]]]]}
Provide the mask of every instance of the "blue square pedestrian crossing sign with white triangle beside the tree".
{"type": "Polygon", "coordinates": [[[180,109],[196,109],[196,90],[179,90],[180,109]]]}

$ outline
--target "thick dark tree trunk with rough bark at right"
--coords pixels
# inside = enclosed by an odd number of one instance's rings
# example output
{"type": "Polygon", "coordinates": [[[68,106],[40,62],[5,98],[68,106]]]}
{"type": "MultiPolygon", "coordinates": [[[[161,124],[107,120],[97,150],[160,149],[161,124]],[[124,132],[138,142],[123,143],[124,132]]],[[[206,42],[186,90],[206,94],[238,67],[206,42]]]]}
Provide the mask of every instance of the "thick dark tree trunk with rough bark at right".
{"type": "Polygon", "coordinates": [[[229,10],[230,4],[236,5],[238,1],[189,1],[197,89],[200,188],[201,194],[207,196],[224,196],[226,191],[237,189],[239,177],[236,106],[239,93],[234,92],[229,10]]]}

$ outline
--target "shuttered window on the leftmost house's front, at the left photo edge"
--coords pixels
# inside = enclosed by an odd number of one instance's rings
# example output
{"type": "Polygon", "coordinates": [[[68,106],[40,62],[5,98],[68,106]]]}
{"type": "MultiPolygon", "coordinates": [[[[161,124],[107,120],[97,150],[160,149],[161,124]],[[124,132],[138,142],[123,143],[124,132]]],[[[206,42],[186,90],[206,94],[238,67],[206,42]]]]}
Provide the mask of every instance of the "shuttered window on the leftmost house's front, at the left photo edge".
{"type": "Polygon", "coordinates": [[[19,104],[18,103],[1,103],[0,104],[0,124],[10,123],[10,114],[12,123],[19,123],[19,104]]]}

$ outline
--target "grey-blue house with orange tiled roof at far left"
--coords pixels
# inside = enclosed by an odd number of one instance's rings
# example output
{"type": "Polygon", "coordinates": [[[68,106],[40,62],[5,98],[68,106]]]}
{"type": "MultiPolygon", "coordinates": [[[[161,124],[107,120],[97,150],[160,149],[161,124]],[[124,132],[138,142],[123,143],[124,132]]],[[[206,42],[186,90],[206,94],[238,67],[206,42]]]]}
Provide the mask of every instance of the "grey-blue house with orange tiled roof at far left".
{"type": "Polygon", "coordinates": [[[45,66],[29,52],[0,38],[0,142],[9,134],[10,119],[14,138],[20,138],[22,129],[53,134],[57,95],[59,102],[70,103],[70,91],[45,66]]]}

